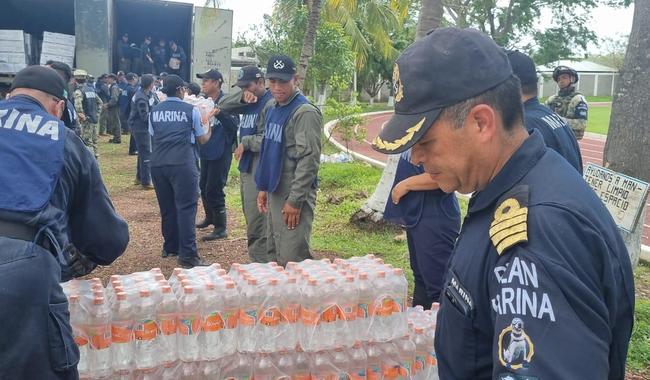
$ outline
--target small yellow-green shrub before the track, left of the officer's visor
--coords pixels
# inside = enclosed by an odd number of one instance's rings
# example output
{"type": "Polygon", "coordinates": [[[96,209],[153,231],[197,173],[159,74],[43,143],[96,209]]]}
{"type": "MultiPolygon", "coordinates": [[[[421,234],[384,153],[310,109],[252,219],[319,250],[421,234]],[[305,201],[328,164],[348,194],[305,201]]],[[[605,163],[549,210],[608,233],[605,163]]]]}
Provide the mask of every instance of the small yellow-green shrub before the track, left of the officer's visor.
{"type": "Polygon", "coordinates": [[[362,142],[366,138],[366,127],[361,112],[359,105],[340,103],[334,98],[327,99],[325,117],[339,120],[332,133],[337,134],[345,142],[347,153],[350,153],[350,142],[362,142]]]}

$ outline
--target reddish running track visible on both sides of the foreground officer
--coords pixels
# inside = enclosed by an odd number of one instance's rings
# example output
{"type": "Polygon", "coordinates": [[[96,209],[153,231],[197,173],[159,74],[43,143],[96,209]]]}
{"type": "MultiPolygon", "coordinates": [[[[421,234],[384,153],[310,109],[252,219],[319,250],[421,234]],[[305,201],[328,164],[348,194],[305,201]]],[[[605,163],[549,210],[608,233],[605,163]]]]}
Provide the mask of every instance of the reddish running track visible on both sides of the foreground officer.
{"type": "MultiPolygon", "coordinates": [[[[391,113],[380,115],[373,115],[368,117],[367,135],[363,143],[350,143],[350,149],[354,152],[360,153],[364,156],[374,158],[375,160],[385,162],[387,156],[382,153],[375,152],[370,142],[379,134],[381,127],[388,119],[391,113]]],[[[583,163],[592,162],[597,165],[603,164],[603,150],[605,149],[605,136],[597,134],[586,134],[580,140],[580,151],[582,152],[583,163]]],[[[643,244],[650,245],[650,201],[646,204],[646,219],[643,225],[643,244]]]]}

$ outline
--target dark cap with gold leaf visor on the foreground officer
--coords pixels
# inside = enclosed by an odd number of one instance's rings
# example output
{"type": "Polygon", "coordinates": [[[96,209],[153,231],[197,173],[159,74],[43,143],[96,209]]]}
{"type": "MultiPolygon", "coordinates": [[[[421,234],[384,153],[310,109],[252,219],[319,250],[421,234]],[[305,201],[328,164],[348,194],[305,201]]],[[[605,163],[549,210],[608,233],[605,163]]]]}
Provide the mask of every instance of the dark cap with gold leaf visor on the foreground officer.
{"type": "Polygon", "coordinates": [[[478,96],[511,76],[506,53],[478,30],[438,28],[430,32],[395,62],[395,114],[373,141],[373,148],[386,154],[406,151],[445,107],[478,96]]]}

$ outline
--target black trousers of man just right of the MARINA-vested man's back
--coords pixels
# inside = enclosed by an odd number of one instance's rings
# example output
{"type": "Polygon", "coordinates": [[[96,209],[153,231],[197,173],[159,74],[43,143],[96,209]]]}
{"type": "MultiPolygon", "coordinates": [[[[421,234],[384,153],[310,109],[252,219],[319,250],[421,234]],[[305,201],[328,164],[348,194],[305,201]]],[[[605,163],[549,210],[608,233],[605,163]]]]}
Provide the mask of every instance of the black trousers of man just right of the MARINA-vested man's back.
{"type": "Polygon", "coordinates": [[[228,181],[228,171],[232,162],[232,154],[226,152],[218,160],[201,160],[201,199],[203,208],[207,210],[222,210],[226,207],[224,188],[228,181]]]}

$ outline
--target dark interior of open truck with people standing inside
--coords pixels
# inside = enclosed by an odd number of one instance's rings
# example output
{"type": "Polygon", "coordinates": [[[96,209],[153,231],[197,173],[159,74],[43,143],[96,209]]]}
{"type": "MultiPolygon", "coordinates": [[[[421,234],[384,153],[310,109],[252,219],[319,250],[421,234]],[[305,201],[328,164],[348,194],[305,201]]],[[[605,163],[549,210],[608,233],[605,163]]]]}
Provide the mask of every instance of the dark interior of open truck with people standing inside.
{"type": "MultiPolygon", "coordinates": [[[[176,41],[187,54],[192,56],[192,4],[160,0],[114,0],[113,57],[117,57],[117,42],[124,33],[129,34],[129,43],[138,49],[147,35],[156,46],[160,38],[169,44],[176,41]]],[[[113,59],[113,70],[118,70],[118,60],[113,59]]],[[[189,70],[188,70],[189,72],[189,70]]],[[[187,78],[185,78],[187,79],[187,78]]]]}

